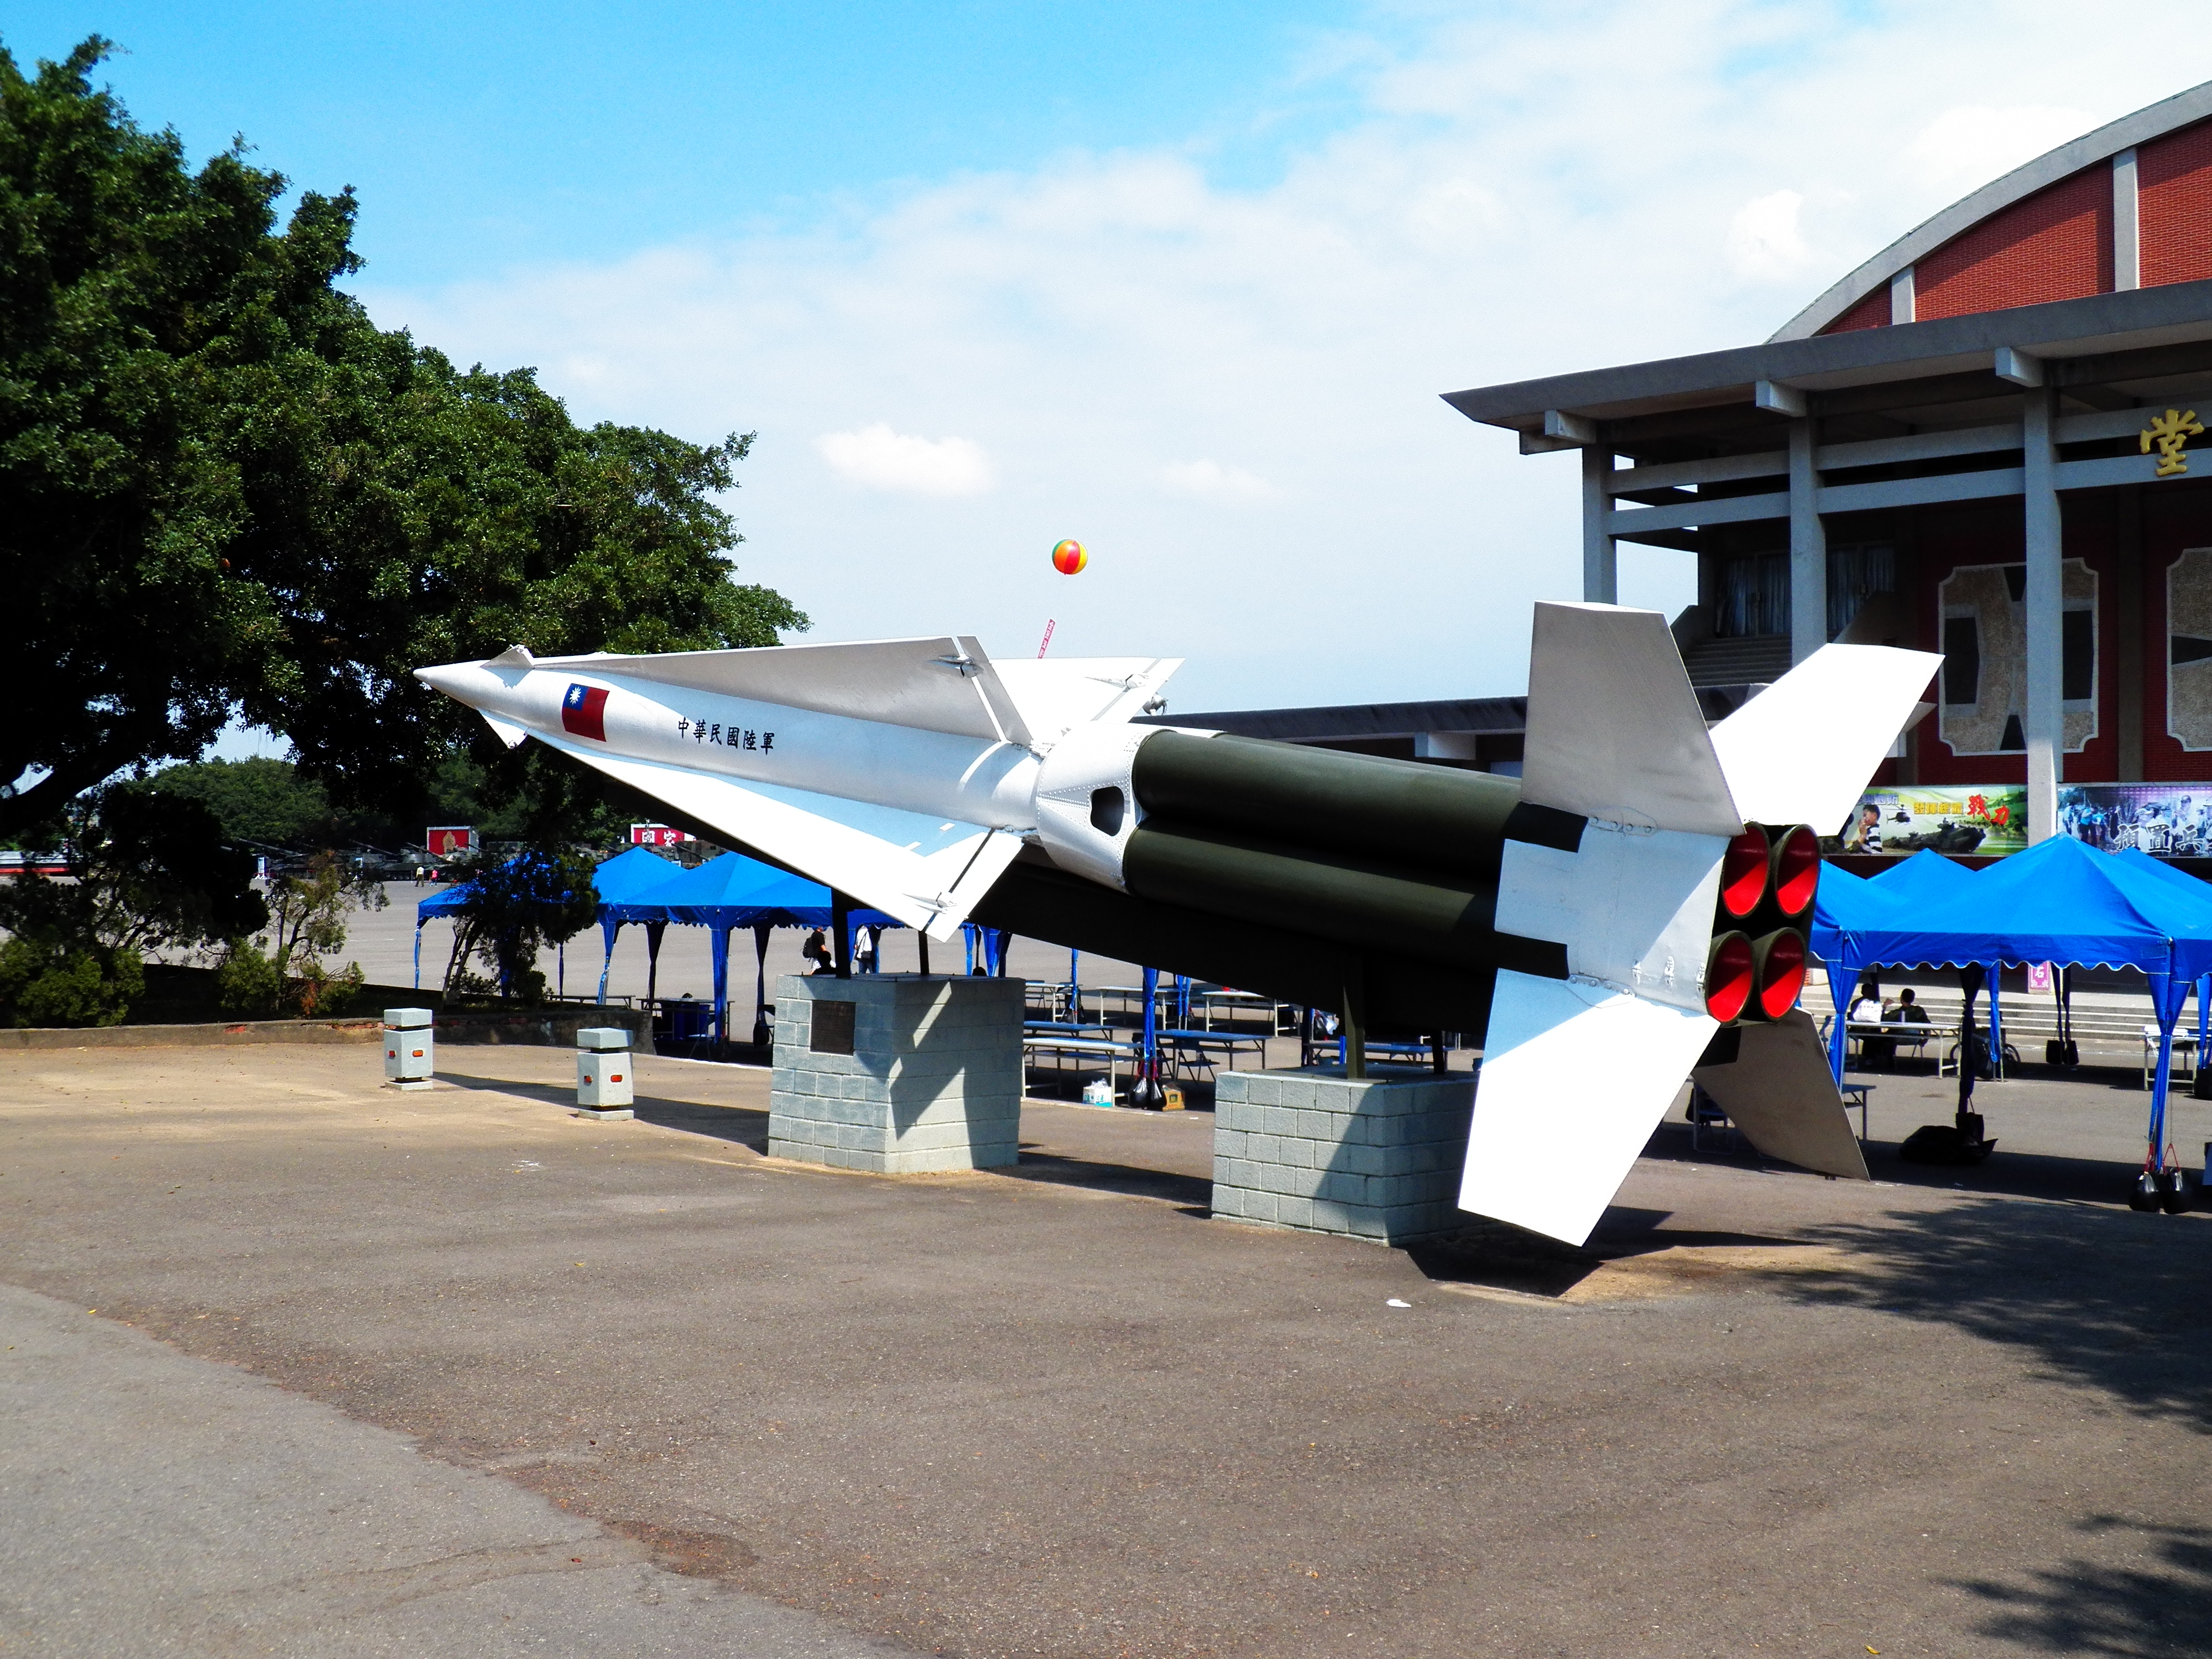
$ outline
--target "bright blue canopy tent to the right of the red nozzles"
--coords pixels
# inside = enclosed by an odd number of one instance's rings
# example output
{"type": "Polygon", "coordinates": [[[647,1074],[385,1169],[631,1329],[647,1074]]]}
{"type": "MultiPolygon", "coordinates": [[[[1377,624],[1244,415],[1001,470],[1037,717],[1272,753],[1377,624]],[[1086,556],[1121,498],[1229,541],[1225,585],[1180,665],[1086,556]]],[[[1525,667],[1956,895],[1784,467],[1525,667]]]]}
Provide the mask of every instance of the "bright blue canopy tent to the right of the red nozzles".
{"type": "MultiPolygon", "coordinates": [[[[2157,1168],[2163,1155],[2174,1020],[2190,984],[2212,973],[2212,898],[2185,891],[2166,872],[2093,852],[2068,836],[2013,854],[1951,883],[1949,891],[1933,883],[1927,894],[1891,896],[1876,889],[1878,883],[1832,887],[1823,869],[1814,931],[1827,942],[1823,960],[1832,964],[1832,980],[1840,971],[1849,984],[1869,962],[1966,969],[1962,1048],[1971,1048],[1980,980],[2004,962],[2141,969],[2150,980],[2159,1022],[2146,1164],[2157,1168]],[[1818,916],[1823,907],[1827,918],[1818,916]]],[[[1840,1037],[1840,1020],[1836,1029],[1840,1037]]],[[[1840,1042],[1832,1062],[1840,1064],[1840,1042]]],[[[1962,1115],[1971,1095],[1973,1066],[1962,1055],[1962,1115]]]]}

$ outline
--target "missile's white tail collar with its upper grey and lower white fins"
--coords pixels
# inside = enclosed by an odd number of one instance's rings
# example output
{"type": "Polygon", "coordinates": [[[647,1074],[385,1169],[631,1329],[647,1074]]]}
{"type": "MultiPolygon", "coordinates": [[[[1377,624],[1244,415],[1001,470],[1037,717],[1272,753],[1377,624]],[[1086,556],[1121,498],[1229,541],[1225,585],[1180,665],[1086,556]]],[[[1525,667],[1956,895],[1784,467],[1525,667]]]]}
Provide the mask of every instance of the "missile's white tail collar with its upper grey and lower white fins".
{"type": "Polygon", "coordinates": [[[1743,818],[1657,611],[1535,608],[1522,799],[1588,818],[1498,872],[1498,929],[1564,945],[1568,978],[1498,975],[1460,1208],[1579,1245],[1719,1031],[1705,947],[1743,818]]]}

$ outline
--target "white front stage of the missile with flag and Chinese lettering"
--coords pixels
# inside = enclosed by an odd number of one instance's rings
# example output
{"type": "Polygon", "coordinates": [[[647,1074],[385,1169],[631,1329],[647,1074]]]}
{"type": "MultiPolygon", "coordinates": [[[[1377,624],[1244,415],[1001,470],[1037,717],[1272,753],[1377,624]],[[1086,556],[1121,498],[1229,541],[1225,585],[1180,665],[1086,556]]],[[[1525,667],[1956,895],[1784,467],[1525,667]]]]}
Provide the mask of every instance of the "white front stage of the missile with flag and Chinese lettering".
{"type": "Polygon", "coordinates": [[[535,737],[945,940],[1035,834],[1046,759],[1124,730],[1179,666],[1000,666],[945,635],[655,657],[515,646],[416,677],[509,748],[535,737]]]}

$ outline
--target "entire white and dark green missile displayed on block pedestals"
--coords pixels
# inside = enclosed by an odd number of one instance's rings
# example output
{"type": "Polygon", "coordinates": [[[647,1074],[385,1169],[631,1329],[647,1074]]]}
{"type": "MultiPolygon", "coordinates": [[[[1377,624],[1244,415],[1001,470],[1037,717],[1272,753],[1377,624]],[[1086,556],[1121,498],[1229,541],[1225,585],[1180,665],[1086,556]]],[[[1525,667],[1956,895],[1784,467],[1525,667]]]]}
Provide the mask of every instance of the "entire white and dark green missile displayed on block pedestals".
{"type": "Polygon", "coordinates": [[[953,635],[416,672],[933,938],[975,916],[1482,1031],[1460,1203],[1579,1243],[1699,1066],[1754,1144],[1865,1177],[1796,1053],[1803,940],[1754,956],[1723,874],[1756,825],[1843,823],[1938,664],[1827,646],[1708,732],[1663,617],[1540,604],[1517,783],[1130,726],[1177,659],[993,664],[953,635]],[[1767,1024],[1723,1075],[1745,995],[1767,1024]]]}

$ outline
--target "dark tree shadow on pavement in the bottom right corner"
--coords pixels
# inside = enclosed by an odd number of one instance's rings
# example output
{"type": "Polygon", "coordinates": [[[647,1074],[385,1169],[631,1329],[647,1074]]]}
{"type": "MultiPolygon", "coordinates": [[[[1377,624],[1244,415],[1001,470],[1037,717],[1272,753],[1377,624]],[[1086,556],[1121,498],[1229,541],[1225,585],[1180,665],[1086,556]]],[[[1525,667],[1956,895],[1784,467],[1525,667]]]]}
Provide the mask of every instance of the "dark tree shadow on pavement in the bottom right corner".
{"type": "Polygon", "coordinates": [[[2084,1533],[2132,1533],[2137,1564],[2062,1562],[2026,1584],[1953,1579],[1995,1608],[1984,1635],[2031,1652],[2170,1659],[2212,1652],[2212,1528],[2090,1515],[2084,1533]]]}

